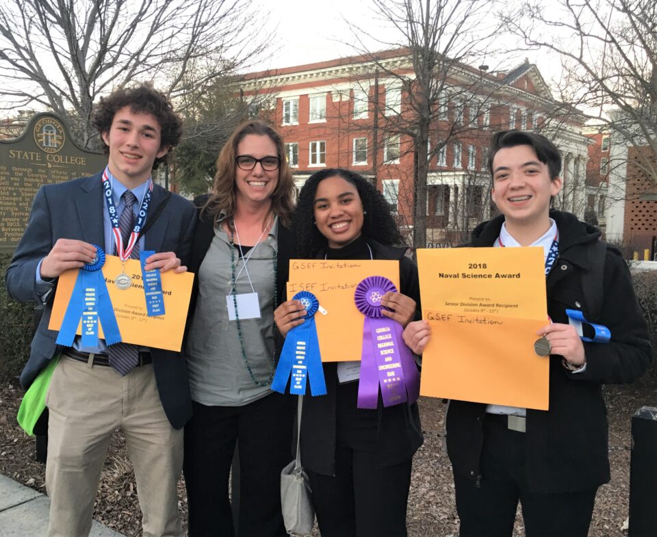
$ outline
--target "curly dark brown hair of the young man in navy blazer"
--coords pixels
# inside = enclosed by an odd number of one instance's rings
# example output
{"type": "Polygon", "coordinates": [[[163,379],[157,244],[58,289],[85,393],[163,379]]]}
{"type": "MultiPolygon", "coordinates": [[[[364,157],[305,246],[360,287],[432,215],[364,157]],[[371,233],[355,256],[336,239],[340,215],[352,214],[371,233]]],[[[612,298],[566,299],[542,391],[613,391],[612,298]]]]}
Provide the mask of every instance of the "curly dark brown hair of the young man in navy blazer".
{"type": "MultiPolygon", "coordinates": [[[[164,157],[155,159],[153,170],[160,163],[166,163],[166,157],[171,149],[180,142],[183,135],[183,120],[176,114],[168,97],[153,88],[151,83],[140,83],[130,88],[117,88],[107,97],[101,97],[94,110],[94,127],[103,135],[110,131],[114,116],[123,107],[129,106],[131,112],[136,114],[144,112],[153,114],[157,118],[160,128],[160,148],[168,146],[169,150],[164,157]]],[[[105,153],[110,148],[105,144],[105,153]]]]}

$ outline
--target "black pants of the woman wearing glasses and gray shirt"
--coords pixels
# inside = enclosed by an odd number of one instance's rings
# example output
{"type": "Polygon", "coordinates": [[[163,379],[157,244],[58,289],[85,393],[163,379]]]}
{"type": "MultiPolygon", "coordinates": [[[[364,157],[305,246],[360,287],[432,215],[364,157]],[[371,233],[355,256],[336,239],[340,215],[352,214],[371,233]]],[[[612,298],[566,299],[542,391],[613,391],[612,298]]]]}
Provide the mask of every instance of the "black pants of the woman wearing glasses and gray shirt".
{"type": "Polygon", "coordinates": [[[240,450],[239,537],[285,537],[281,470],[292,460],[296,397],[272,393],[244,406],[193,403],[183,471],[190,537],[233,537],[229,473],[240,450]]]}

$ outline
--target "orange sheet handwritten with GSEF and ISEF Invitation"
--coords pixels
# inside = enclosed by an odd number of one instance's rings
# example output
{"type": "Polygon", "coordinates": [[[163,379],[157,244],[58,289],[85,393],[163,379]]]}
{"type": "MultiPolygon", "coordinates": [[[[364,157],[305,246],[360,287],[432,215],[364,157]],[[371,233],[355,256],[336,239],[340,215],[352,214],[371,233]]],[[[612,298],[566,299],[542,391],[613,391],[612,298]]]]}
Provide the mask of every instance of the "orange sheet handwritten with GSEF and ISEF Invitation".
{"type": "Polygon", "coordinates": [[[356,308],[354,292],[368,276],[385,276],[399,290],[399,261],[289,261],[288,300],[299,291],[309,291],[320,302],[315,324],[322,362],[361,359],[364,317],[356,308]]]}

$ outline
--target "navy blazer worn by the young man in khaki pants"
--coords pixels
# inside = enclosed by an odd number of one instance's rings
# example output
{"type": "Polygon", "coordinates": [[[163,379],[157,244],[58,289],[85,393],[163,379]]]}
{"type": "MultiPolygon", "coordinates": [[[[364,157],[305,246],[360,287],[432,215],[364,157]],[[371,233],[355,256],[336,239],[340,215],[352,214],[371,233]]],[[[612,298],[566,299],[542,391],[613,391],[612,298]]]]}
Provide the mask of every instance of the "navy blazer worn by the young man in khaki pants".
{"type": "MultiPolygon", "coordinates": [[[[47,256],[57,239],[78,239],[104,244],[102,174],[74,179],[39,189],[32,205],[27,228],[14,252],[6,274],[9,294],[20,302],[41,304],[36,293],[36,267],[47,256]]],[[[155,214],[164,201],[166,190],[153,185],[149,213],[155,214]]],[[[176,252],[183,265],[190,260],[192,237],[196,225],[194,205],[172,194],[164,211],[144,235],[144,246],[156,252],[176,252]]],[[[32,339],[27,365],[21,373],[25,389],[48,361],[60,352],[57,332],[48,329],[52,311],[51,293],[44,304],[41,322],[32,339]]],[[[162,349],[151,349],[153,369],[162,406],[171,425],[179,429],[192,416],[190,387],[183,355],[162,349]]]]}

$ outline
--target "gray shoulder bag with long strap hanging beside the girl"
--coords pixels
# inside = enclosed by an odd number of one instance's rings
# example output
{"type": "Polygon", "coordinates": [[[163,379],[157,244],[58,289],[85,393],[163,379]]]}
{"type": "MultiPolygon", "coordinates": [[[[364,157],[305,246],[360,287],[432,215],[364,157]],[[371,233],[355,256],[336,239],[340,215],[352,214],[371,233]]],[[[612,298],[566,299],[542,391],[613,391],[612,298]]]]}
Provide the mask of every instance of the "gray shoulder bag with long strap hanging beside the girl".
{"type": "Polygon", "coordinates": [[[303,395],[299,395],[296,412],[296,459],[281,471],[281,508],[288,535],[309,535],[315,523],[312,490],[308,475],[301,467],[301,407],[303,395]]]}

